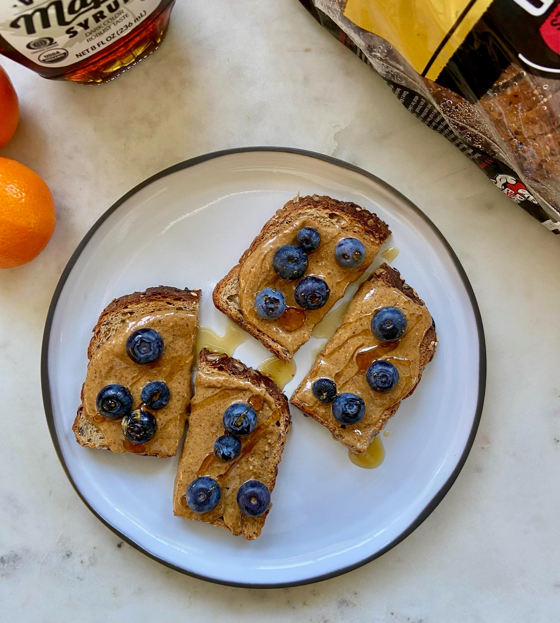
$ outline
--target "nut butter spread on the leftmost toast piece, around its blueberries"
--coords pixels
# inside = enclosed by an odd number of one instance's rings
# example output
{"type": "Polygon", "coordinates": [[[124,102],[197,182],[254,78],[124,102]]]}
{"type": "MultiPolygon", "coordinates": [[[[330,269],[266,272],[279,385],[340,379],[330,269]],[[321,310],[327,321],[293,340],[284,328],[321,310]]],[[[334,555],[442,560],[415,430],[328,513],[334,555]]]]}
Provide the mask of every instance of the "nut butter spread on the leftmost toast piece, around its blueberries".
{"type": "Polygon", "coordinates": [[[125,325],[95,351],[87,366],[84,383],[84,413],[105,435],[113,452],[135,452],[173,456],[185,429],[187,408],[191,397],[191,364],[195,354],[196,315],[183,310],[131,316],[125,325]],[[128,336],[140,327],[157,330],[163,338],[162,356],[148,364],[138,364],[127,355],[128,336]],[[140,393],[150,381],[165,381],[170,400],[157,411],[143,406],[155,416],[157,432],[146,444],[130,444],[123,439],[120,419],[106,419],[97,413],[95,398],[100,389],[117,383],[130,389],[133,409],[142,406],[140,393]]]}

